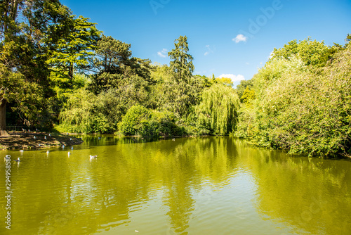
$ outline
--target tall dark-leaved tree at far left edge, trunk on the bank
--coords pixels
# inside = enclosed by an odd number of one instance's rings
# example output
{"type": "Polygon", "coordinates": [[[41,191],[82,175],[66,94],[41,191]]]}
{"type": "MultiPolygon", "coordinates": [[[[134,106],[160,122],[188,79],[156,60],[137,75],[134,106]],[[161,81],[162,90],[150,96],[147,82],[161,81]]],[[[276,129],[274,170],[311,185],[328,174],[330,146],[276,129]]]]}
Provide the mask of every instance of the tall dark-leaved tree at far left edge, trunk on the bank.
{"type": "Polygon", "coordinates": [[[0,9],[0,130],[6,134],[6,103],[15,104],[27,125],[48,120],[43,99],[52,92],[43,39],[70,12],[58,0],[1,1],[0,9]]]}

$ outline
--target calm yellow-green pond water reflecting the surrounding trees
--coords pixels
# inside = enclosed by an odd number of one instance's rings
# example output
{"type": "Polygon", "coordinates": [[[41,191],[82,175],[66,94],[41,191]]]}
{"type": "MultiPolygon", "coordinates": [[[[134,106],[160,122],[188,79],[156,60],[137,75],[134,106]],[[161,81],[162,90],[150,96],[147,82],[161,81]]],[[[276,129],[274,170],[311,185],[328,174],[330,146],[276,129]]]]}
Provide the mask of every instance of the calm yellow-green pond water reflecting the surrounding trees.
{"type": "Polygon", "coordinates": [[[232,137],[84,140],[0,152],[0,234],[351,234],[350,160],[232,137]],[[11,163],[11,231],[6,154],[21,159],[11,163]]]}

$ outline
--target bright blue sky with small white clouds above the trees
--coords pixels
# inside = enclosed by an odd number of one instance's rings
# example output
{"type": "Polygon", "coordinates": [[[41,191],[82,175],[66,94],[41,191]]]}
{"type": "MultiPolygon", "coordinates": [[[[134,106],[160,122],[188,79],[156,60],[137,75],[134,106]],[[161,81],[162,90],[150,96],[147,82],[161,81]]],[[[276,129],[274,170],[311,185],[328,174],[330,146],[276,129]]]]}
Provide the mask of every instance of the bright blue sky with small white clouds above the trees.
{"type": "Polygon", "coordinates": [[[312,37],[345,44],[351,1],[62,0],[107,36],[131,44],[133,56],[169,64],[174,40],[186,35],[194,74],[249,80],[274,47],[312,37]]]}

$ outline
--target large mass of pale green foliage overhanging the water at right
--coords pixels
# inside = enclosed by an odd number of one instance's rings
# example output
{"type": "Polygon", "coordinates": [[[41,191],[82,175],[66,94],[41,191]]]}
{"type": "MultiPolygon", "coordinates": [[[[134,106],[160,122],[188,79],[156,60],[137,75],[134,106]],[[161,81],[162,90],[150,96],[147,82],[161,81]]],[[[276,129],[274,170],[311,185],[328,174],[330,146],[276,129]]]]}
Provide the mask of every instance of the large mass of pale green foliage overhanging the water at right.
{"type": "Polygon", "coordinates": [[[277,56],[286,53],[286,46],[274,50],[274,58],[255,76],[257,97],[241,110],[236,134],[290,153],[350,155],[351,47],[326,55],[331,48],[313,42],[319,50],[307,56],[308,42],[297,45],[307,51],[290,56],[277,56]],[[322,58],[331,59],[322,65],[322,58]]]}

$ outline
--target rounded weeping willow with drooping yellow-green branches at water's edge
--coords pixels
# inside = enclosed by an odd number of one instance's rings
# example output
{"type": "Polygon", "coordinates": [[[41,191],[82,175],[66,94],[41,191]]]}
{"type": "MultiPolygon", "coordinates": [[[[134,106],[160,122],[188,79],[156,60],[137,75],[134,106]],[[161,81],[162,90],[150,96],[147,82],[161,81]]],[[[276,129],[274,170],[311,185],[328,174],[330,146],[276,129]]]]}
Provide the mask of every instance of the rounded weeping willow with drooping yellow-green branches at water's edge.
{"type": "Polygon", "coordinates": [[[213,84],[204,90],[196,107],[198,124],[212,134],[229,134],[237,125],[239,96],[224,84],[213,84]]]}

